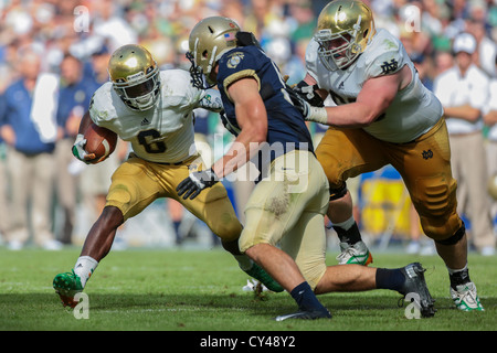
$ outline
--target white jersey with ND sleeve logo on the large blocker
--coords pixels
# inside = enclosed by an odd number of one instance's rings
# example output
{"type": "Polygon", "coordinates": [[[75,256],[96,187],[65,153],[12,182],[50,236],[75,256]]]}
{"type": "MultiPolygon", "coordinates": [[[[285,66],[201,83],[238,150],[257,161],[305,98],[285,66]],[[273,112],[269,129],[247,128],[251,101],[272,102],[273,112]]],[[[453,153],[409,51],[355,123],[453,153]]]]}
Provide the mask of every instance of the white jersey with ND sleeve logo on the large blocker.
{"type": "Polygon", "coordinates": [[[337,105],[355,101],[369,78],[396,73],[404,65],[411,69],[411,83],[396,94],[384,115],[363,128],[371,136],[389,142],[409,142],[442,117],[441,103],[423,86],[402,43],[388,31],[379,29],[366,51],[346,69],[328,71],[318,56],[318,47],[311,40],[306,52],[307,71],[337,105]]]}

